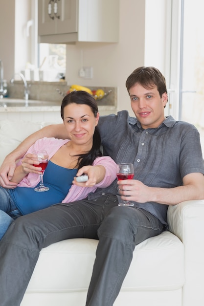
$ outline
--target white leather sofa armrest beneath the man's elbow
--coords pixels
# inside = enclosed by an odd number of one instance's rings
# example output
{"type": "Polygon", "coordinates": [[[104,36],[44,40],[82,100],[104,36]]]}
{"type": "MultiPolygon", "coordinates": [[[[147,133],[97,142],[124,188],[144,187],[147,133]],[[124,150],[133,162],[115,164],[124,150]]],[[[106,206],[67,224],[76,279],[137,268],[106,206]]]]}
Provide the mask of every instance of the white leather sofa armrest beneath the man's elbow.
{"type": "Polygon", "coordinates": [[[190,200],[169,206],[169,230],[183,242],[185,284],[183,306],[204,301],[204,200],[190,200]]]}

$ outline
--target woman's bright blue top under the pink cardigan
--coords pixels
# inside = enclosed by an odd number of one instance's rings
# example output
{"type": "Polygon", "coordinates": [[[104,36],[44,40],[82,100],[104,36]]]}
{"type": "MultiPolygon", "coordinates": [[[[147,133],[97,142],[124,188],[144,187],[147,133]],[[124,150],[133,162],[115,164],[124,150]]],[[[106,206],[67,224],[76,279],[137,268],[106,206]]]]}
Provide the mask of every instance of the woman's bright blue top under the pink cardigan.
{"type": "MultiPolygon", "coordinates": [[[[49,187],[48,191],[36,192],[35,188],[16,187],[11,190],[11,197],[22,215],[61,203],[67,196],[77,172],[78,169],[67,169],[49,160],[43,175],[44,185],[49,187]]],[[[39,185],[40,183],[35,187],[39,185]]]]}

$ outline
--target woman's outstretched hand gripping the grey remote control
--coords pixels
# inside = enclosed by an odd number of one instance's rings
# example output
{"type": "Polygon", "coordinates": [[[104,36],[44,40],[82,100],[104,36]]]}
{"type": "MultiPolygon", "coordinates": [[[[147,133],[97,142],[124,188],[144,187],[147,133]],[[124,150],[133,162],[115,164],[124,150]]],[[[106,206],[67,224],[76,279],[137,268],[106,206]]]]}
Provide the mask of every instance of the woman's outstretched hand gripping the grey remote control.
{"type": "Polygon", "coordinates": [[[73,184],[81,187],[92,187],[98,183],[100,183],[104,176],[105,176],[106,170],[105,167],[98,165],[98,166],[84,166],[79,169],[76,176],[80,176],[83,174],[88,175],[89,179],[87,182],[77,182],[76,177],[74,177],[73,184]]]}

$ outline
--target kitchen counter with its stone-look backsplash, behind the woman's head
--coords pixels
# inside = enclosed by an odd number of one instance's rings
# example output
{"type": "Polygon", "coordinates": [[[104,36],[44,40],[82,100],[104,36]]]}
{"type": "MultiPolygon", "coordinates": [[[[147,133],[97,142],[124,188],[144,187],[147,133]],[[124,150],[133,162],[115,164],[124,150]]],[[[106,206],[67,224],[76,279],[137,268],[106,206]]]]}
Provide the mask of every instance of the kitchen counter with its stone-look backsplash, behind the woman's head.
{"type": "MultiPolygon", "coordinates": [[[[0,99],[0,119],[30,120],[32,122],[62,123],[60,108],[63,96],[68,91],[67,82],[34,82],[28,81],[28,103],[22,99],[24,87],[22,81],[9,84],[9,97],[0,99]],[[60,94],[59,94],[60,93],[60,94]]],[[[91,90],[101,88],[105,96],[97,101],[100,115],[109,115],[117,111],[116,87],[91,87],[91,90]]]]}

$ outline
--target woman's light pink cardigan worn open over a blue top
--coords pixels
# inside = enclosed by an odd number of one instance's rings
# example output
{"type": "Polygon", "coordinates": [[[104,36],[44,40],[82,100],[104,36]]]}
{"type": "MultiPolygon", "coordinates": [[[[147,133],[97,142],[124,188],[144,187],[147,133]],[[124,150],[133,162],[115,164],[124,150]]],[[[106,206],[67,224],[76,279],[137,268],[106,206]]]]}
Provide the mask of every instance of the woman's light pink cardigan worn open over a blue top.
{"type": "MultiPolygon", "coordinates": [[[[50,138],[42,138],[37,140],[26,152],[32,153],[35,150],[46,150],[49,159],[69,140],[66,139],[56,139],[53,137],[50,138]]],[[[22,159],[21,159],[22,160],[22,159]]],[[[21,164],[21,160],[18,162],[18,165],[21,164]]],[[[67,196],[64,198],[62,203],[73,202],[76,200],[80,200],[86,198],[89,193],[94,192],[97,188],[105,188],[108,187],[113,180],[116,178],[116,164],[110,156],[102,156],[97,157],[94,162],[93,166],[102,165],[106,169],[106,174],[104,179],[94,185],[93,187],[79,187],[76,185],[71,185],[67,196]]],[[[29,173],[26,175],[22,181],[18,184],[19,187],[35,187],[40,182],[40,175],[35,173],[29,173]]],[[[54,204],[54,203],[53,203],[54,204]]]]}

